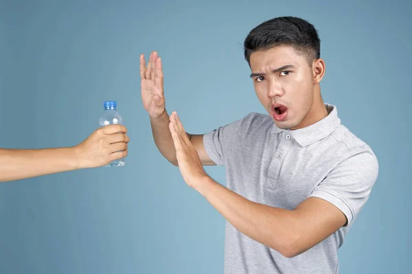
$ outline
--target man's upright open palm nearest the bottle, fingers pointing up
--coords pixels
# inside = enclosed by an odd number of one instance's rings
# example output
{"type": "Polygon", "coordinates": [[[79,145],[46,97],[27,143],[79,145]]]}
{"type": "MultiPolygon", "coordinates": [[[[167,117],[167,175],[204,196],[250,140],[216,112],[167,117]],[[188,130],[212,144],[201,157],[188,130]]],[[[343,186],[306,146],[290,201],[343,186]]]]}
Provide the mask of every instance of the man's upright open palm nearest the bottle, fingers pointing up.
{"type": "Polygon", "coordinates": [[[147,67],[144,55],[140,55],[140,77],[141,101],[143,101],[144,109],[150,117],[158,118],[165,112],[165,99],[161,59],[156,51],[150,54],[147,67]]]}

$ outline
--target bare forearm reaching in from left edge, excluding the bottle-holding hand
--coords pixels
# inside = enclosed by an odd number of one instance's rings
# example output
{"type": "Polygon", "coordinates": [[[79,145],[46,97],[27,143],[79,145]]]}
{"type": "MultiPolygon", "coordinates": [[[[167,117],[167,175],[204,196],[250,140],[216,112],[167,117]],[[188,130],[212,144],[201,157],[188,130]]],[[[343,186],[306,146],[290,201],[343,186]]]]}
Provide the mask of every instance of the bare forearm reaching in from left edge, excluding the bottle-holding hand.
{"type": "Polygon", "coordinates": [[[0,182],[79,168],[75,148],[0,149],[0,182]]]}

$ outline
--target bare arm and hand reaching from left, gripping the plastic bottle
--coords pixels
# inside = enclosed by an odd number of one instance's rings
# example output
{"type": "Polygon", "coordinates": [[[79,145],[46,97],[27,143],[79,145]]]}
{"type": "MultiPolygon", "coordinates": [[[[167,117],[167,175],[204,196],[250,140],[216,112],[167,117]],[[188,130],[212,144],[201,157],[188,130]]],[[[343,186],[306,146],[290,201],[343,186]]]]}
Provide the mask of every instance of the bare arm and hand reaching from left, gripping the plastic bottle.
{"type": "Polygon", "coordinates": [[[104,166],[126,157],[129,138],[124,125],[96,129],[75,147],[0,149],[0,182],[104,166]]]}

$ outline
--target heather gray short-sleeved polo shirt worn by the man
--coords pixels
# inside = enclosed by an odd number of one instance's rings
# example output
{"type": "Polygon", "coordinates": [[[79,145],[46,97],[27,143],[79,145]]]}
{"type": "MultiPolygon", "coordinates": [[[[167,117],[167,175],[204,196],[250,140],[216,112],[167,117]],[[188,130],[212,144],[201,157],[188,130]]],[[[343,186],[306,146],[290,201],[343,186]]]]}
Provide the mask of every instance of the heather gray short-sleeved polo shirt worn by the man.
{"type": "Polygon", "coordinates": [[[227,188],[256,203],[292,210],[308,197],[339,208],[347,225],[294,258],[244,236],[229,222],[225,273],[339,273],[337,249],[365,205],[378,160],[325,104],[328,116],[308,127],[279,129],[270,116],[251,113],[205,134],[211,160],[225,166],[227,188]]]}

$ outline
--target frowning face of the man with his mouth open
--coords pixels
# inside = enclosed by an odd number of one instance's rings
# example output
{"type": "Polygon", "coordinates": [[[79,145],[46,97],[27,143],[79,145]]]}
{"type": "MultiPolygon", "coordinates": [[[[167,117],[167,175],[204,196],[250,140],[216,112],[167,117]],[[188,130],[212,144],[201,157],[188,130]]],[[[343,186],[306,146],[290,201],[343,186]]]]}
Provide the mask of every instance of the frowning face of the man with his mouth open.
{"type": "Polygon", "coordinates": [[[310,111],[314,97],[312,68],[290,46],[255,51],[251,78],[260,103],[282,129],[296,129],[310,111]]]}

